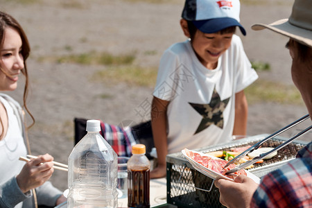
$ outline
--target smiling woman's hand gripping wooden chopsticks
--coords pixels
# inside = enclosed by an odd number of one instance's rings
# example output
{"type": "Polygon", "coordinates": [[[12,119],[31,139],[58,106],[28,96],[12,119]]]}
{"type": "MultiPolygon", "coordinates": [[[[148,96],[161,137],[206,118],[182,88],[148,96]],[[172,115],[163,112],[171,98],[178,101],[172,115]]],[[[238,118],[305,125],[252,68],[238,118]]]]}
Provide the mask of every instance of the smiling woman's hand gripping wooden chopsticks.
{"type": "Polygon", "coordinates": [[[17,184],[19,189],[26,193],[31,189],[40,187],[44,182],[49,180],[54,169],[53,157],[49,154],[39,155],[35,159],[26,162],[24,167],[21,169],[19,175],[17,175],[17,184]]]}

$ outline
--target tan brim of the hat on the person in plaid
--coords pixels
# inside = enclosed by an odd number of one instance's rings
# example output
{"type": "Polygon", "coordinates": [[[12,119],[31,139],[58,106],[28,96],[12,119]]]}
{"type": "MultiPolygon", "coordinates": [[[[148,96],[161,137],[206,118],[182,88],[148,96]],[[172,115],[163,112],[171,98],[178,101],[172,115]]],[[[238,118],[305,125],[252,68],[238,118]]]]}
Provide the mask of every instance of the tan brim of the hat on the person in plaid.
{"type": "Polygon", "coordinates": [[[294,40],[297,40],[297,42],[300,42],[301,44],[305,44],[307,46],[312,47],[312,39],[311,39],[312,31],[297,26],[293,26],[292,24],[289,23],[288,19],[280,19],[278,21],[273,22],[272,24],[257,23],[252,25],[252,30],[254,31],[260,31],[265,28],[268,28],[271,31],[275,31],[281,35],[291,37],[294,40]]]}

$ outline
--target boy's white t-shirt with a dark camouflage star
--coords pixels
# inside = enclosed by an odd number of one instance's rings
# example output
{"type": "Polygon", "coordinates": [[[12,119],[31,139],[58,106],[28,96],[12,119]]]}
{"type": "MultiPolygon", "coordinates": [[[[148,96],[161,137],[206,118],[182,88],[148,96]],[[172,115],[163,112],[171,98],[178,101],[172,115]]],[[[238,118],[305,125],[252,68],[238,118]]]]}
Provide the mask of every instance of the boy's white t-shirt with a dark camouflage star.
{"type": "Polygon", "coordinates": [[[214,70],[200,63],[189,40],[169,47],[160,60],[153,92],[153,96],[170,101],[168,153],[230,141],[235,94],[257,78],[237,35],[214,70]]]}

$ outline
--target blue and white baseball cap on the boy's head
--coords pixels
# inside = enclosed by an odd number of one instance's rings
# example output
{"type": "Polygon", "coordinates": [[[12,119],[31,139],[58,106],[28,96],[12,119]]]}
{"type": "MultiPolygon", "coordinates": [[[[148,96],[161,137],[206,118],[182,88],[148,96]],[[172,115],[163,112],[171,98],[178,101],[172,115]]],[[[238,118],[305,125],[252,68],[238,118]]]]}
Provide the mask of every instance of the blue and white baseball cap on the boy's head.
{"type": "Polygon", "coordinates": [[[217,33],[230,26],[239,26],[241,33],[246,35],[239,23],[240,10],[239,0],[186,0],[182,18],[192,21],[202,33],[217,33]]]}

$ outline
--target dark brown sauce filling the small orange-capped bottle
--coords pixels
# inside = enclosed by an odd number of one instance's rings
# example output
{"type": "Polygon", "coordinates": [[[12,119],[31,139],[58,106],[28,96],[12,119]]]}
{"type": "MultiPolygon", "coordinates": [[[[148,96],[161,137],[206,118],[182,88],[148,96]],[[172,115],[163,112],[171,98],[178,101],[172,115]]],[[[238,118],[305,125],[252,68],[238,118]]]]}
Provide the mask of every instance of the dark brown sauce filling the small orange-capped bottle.
{"type": "Polygon", "coordinates": [[[150,207],[149,168],[143,170],[128,169],[128,207],[150,207]]]}

